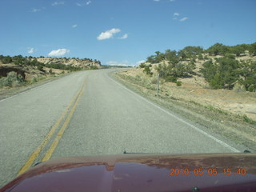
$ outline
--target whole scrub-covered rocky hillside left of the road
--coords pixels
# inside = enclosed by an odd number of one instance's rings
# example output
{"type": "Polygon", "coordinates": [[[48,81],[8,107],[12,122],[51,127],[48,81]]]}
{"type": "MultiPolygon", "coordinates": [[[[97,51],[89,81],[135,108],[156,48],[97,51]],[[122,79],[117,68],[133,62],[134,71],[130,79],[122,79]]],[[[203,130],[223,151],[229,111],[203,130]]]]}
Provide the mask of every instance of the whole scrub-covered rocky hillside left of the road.
{"type": "Polygon", "coordinates": [[[33,58],[22,57],[22,55],[14,57],[0,55],[0,88],[23,86],[70,71],[98,69],[102,69],[101,62],[89,58],[33,58]]]}

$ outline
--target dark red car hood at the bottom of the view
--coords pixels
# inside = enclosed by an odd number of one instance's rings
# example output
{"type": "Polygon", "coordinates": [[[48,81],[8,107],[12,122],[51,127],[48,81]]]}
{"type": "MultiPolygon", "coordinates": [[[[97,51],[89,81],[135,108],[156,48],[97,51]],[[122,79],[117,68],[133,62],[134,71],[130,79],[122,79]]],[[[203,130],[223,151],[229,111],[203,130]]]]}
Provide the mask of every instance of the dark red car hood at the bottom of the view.
{"type": "Polygon", "coordinates": [[[58,158],[34,166],[3,186],[0,192],[256,191],[255,174],[256,154],[58,158]]]}

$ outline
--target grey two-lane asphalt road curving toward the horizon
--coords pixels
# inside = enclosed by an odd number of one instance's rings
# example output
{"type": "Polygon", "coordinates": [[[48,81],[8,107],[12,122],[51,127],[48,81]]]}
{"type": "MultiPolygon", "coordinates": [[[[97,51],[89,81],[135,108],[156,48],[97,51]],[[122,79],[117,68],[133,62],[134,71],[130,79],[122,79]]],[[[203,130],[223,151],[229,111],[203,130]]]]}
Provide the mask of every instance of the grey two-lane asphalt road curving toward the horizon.
{"type": "Polygon", "coordinates": [[[0,101],[0,186],[24,165],[62,156],[238,152],[115,82],[111,71],[80,71],[0,101]]]}

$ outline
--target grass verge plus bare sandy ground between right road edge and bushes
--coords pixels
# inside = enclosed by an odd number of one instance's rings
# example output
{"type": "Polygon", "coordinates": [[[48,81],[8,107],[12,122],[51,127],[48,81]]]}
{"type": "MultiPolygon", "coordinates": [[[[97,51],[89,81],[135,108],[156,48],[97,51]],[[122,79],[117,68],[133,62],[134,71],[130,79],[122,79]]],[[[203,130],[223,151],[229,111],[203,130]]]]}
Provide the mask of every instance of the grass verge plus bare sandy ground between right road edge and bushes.
{"type": "Polygon", "coordinates": [[[210,90],[184,81],[182,86],[161,82],[157,96],[156,84],[150,82],[141,69],[122,70],[111,76],[130,90],[198,123],[211,134],[245,146],[245,150],[256,150],[255,93],[210,90]],[[248,111],[252,113],[246,113],[248,111]]]}

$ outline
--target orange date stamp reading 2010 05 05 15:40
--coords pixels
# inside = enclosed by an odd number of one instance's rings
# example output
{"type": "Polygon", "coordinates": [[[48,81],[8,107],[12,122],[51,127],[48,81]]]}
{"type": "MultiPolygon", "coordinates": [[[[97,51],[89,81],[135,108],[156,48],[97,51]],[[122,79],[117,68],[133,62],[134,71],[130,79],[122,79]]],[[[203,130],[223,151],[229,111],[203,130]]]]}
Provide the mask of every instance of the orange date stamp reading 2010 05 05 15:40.
{"type": "Polygon", "coordinates": [[[224,175],[246,175],[245,168],[237,168],[237,169],[230,169],[230,168],[223,168],[223,169],[216,169],[216,168],[195,168],[195,169],[170,169],[170,176],[177,176],[177,175],[217,175],[217,174],[224,174],[224,175]]]}

